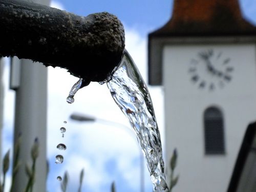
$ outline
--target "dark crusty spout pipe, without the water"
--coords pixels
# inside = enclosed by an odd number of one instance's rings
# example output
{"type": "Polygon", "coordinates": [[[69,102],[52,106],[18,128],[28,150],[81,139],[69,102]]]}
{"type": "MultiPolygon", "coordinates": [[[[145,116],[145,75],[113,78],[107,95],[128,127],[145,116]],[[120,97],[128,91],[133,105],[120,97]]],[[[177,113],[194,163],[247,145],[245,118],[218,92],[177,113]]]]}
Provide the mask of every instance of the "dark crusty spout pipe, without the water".
{"type": "Polygon", "coordinates": [[[0,56],[61,67],[79,78],[103,81],[118,65],[124,29],[110,13],[78,16],[20,0],[0,0],[0,56]]]}

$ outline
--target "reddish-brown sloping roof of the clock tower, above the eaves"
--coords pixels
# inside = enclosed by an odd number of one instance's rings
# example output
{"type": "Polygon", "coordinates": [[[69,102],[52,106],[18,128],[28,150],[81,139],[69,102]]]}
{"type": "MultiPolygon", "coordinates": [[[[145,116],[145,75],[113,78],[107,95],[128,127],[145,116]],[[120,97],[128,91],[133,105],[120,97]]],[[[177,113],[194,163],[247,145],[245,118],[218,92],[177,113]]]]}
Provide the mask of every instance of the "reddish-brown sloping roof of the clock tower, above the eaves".
{"type": "Polygon", "coordinates": [[[174,0],[173,16],[150,36],[255,34],[238,0],[174,0]]]}

